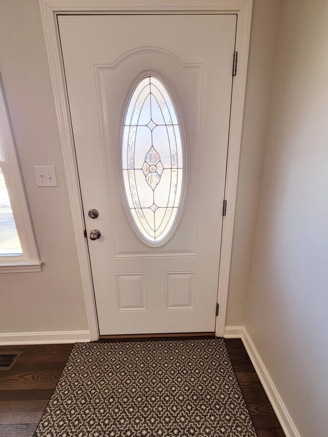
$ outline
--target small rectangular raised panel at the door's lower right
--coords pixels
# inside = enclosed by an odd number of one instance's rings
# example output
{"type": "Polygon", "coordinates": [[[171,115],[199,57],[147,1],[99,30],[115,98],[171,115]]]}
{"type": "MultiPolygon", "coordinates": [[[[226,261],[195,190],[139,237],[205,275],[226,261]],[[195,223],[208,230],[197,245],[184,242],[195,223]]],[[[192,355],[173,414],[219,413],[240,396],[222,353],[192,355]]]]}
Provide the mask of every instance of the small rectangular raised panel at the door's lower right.
{"type": "Polygon", "coordinates": [[[195,309],[196,272],[166,273],[166,309],[195,309]]]}

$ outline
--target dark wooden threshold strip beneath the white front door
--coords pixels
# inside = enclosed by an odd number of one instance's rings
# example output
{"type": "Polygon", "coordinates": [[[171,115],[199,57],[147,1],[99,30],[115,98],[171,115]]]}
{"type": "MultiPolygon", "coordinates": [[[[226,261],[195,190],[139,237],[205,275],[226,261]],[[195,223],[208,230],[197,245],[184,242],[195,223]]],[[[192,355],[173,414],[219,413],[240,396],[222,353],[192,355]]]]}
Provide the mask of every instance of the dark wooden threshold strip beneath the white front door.
{"type": "Polygon", "coordinates": [[[99,342],[116,341],[159,341],[159,340],[209,340],[215,337],[215,332],[170,332],[169,334],[118,334],[99,336],[99,342]]]}

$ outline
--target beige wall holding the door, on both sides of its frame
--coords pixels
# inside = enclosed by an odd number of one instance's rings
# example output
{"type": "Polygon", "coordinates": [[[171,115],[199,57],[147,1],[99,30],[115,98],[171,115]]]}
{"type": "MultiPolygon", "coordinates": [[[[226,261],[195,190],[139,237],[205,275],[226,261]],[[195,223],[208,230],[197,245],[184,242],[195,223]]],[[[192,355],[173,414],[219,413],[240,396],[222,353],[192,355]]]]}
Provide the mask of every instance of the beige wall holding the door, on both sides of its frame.
{"type": "MultiPolygon", "coordinates": [[[[281,0],[254,0],[227,323],[244,322],[281,0]]],[[[87,328],[48,59],[37,0],[0,0],[0,69],[42,273],[1,274],[0,332],[87,328]],[[33,165],[56,165],[37,188],[33,165]]]]}

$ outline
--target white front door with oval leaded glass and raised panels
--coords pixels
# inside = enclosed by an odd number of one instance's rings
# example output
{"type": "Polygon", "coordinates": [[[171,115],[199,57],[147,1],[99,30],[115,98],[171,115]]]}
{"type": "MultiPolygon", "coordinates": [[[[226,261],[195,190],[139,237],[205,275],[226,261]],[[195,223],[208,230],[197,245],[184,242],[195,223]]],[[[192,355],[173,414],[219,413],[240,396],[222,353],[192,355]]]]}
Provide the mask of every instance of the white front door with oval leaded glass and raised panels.
{"type": "Polygon", "coordinates": [[[236,15],[58,24],[100,335],[214,332],[236,15]]]}

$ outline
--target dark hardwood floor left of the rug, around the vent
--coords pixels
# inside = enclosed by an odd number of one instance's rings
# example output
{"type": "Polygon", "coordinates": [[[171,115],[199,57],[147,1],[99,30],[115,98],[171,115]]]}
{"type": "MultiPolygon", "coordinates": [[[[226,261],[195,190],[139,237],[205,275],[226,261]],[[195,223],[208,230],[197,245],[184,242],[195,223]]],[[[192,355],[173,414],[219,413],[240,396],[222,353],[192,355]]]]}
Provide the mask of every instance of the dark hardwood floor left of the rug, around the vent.
{"type": "Polygon", "coordinates": [[[1,346],[23,350],[10,370],[0,370],[0,436],[31,437],[73,348],[72,344],[1,346]]]}

